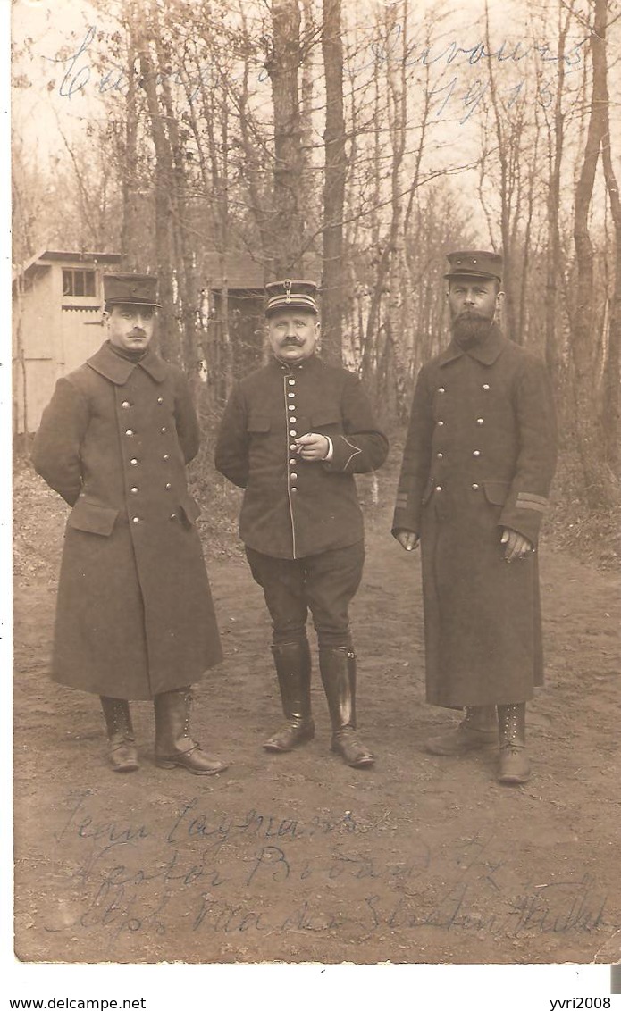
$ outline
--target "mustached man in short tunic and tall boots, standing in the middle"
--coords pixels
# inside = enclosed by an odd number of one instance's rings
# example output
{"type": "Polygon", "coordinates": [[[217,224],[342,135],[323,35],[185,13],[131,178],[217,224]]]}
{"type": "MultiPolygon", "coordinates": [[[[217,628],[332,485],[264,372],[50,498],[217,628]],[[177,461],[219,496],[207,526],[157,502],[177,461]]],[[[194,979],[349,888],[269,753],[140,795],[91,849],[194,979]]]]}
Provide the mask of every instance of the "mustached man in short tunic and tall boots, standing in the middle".
{"type": "Polygon", "coordinates": [[[267,286],[273,358],[234,389],[215,465],[245,488],[240,535],[272,619],[274,664],[286,723],[264,747],[289,751],[315,734],[308,610],[333,750],[354,766],[374,756],[356,733],[356,656],[348,608],[362,575],[362,514],[354,474],[379,467],[387,442],[358,379],[316,354],[317,286],[267,286]]]}

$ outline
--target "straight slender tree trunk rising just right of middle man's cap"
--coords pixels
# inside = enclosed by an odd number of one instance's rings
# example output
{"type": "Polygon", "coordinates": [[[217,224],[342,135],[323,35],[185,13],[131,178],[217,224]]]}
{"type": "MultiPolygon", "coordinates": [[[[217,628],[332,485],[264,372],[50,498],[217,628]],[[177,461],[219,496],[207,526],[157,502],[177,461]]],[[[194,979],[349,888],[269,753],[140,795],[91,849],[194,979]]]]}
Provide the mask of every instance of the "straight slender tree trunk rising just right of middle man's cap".
{"type": "Polygon", "coordinates": [[[341,0],[324,0],[322,45],[326,69],[326,169],[324,185],[324,264],[322,348],[329,362],[343,360],[343,214],[345,208],[345,115],[341,0]]]}

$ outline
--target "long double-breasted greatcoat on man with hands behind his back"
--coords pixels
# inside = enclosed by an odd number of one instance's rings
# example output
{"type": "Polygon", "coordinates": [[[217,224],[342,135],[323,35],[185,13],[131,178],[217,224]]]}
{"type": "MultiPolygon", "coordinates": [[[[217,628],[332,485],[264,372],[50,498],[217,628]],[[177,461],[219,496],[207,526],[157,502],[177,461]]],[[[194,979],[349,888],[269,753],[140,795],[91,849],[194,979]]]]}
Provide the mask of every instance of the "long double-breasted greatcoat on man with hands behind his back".
{"type": "Polygon", "coordinates": [[[35,469],[71,505],[53,677],[119,699],[196,681],[221,659],[185,465],[198,426],[182,372],[106,343],[57,383],[35,469]]]}

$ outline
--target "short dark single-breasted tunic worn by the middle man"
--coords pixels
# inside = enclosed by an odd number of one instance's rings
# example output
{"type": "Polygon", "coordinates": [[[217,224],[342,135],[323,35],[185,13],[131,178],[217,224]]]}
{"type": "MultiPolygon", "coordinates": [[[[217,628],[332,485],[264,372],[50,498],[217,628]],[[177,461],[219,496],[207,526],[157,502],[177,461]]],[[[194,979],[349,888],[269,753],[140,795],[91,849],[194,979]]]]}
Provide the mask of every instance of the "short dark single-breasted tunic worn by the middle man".
{"type": "Polygon", "coordinates": [[[379,467],[388,443],[360,382],[313,356],[275,358],[238,383],[217,438],[215,466],[246,489],[240,536],[274,558],[303,558],[363,537],[354,474],[379,467]],[[332,439],[330,462],[306,462],[293,440],[332,439]]]}

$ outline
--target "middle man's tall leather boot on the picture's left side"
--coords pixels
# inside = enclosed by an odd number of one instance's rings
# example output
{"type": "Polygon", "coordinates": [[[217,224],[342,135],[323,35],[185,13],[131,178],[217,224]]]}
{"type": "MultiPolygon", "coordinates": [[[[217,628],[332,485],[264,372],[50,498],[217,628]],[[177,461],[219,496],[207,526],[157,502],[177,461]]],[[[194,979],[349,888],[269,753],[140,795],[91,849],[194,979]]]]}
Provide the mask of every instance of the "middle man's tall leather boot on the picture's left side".
{"type": "Polygon", "coordinates": [[[282,711],[286,718],[263,747],[266,751],[290,751],[315,737],[310,715],[310,649],[306,639],[272,646],[282,711]]]}

